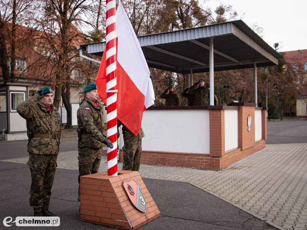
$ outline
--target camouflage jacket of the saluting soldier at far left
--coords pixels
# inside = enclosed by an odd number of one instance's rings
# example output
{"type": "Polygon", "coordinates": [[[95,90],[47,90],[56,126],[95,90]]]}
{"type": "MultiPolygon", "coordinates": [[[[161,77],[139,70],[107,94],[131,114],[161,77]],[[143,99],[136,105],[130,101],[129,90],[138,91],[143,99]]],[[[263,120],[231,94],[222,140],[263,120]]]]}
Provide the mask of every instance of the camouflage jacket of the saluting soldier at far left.
{"type": "Polygon", "coordinates": [[[41,155],[59,153],[61,137],[61,117],[51,105],[51,111],[39,101],[37,94],[17,106],[17,112],[26,120],[27,129],[33,134],[51,134],[52,138],[33,137],[28,144],[28,152],[41,155]]]}

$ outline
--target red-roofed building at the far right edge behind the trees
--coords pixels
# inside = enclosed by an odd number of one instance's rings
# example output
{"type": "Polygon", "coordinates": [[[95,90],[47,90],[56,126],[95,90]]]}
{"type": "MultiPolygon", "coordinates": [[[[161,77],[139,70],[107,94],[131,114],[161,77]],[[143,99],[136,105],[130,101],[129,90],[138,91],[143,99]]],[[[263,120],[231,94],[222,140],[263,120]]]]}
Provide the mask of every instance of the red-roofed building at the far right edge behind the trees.
{"type": "Polygon", "coordinates": [[[307,118],[307,49],[285,52],[287,71],[297,75],[300,87],[296,100],[297,119],[307,118]]]}

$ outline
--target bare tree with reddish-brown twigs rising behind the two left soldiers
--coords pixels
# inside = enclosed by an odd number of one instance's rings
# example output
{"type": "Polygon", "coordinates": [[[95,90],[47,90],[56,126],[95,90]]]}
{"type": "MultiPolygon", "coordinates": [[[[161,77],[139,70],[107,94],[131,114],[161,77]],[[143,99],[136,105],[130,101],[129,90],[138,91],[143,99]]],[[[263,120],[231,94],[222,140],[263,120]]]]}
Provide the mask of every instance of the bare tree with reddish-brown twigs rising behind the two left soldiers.
{"type": "MultiPolygon", "coordinates": [[[[94,28],[97,33],[101,16],[101,1],[89,0],[45,0],[40,6],[41,17],[33,24],[41,30],[42,39],[50,47],[49,59],[55,70],[55,93],[53,104],[59,108],[62,98],[67,111],[67,124],[70,128],[70,96],[72,72],[80,67],[79,52],[76,46],[85,43],[85,32],[94,28]],[[93,19],[96,17],[96,21],[93,19]]],[[[82,72],[82,71],[81,71],[82,72]]],[[[78,79],[80,80],[80,79],[78,79]]],[[[75,84],[83,83],[74,80],[75,84]]]]}

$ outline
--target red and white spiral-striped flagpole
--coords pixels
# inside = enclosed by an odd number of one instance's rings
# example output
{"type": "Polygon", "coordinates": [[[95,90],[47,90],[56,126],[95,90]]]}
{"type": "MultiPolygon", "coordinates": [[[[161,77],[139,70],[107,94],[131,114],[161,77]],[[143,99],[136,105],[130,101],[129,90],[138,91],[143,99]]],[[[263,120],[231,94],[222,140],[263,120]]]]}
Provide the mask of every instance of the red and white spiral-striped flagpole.
{"type": "Polygon", "coordinates": [[[107,148],[108,175],[117,175],[117,90],[116,90],[116,33],[115,33],[115,0],[107,0],[107,138],[113,148],[107,148]]]}

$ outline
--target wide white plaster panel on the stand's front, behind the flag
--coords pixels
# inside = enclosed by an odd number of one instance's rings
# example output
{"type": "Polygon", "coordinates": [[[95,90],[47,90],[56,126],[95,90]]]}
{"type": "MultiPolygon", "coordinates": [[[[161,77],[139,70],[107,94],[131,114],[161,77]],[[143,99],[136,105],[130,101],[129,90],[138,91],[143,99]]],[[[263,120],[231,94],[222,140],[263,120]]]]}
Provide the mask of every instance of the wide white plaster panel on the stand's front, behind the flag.
{"type": "Polygon", "coordinates": [[[142,128],[143,150],[209,154],[209,110],[145,110],[142,128]]]}

